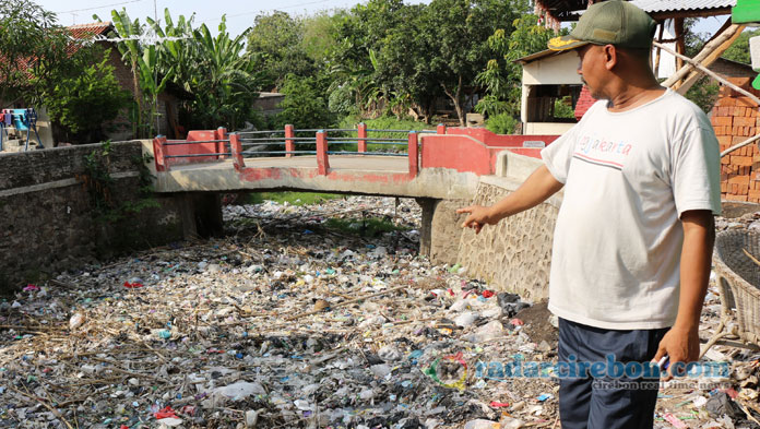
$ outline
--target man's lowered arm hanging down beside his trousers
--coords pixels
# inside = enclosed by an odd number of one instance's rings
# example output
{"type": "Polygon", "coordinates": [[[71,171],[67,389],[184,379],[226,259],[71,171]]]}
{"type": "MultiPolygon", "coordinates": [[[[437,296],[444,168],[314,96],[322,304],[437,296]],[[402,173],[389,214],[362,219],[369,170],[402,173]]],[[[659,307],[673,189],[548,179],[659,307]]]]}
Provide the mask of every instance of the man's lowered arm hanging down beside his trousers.
{"type": "Polygon", "coordinates": [[[710,282],[710,267],[715,226],[712,212],[684,212],[684,247],[680,259],[680,295],[678,315],[673,327],[660,342],[654,360],[668,355],[674,362],[691,362],[699,358],[699,319],[710,282]]]}

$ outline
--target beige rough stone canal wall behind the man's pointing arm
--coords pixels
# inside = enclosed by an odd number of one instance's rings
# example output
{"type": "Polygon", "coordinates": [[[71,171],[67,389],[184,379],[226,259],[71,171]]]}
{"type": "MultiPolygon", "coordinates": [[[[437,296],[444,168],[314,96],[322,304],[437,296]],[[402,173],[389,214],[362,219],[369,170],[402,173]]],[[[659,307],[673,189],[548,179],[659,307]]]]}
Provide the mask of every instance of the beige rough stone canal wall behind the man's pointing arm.
{"type": "Polygon", "coordinates": [[[508,151],[499,154],[497,175],[482,176],[472,200],[417,200],[423,207],[420,253],[436,264],[459,263],[467,274],[497,290],[539,300],[548,297],[554,228],[561,193],[543,204],[486,226],[479,235],[461,227],[455,210],[491,205],[507,196],[543,163],[508,151]]]}

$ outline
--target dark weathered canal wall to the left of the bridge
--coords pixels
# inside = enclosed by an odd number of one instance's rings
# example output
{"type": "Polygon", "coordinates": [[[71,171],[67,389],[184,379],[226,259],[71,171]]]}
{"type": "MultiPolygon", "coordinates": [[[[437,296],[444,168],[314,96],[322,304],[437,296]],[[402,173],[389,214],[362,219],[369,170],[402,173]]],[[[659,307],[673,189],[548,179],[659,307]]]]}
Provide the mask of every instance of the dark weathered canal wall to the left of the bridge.
{"type": "MultiPolygon", "coordinates": [[[[84,157],[99,144],[0,154],[0,289],[128,250],[182,238],[182,200],[156,196],[158,207],[96,218],[83,184],[84,157]]],[[[115,206],[135,202],[141,142],[111,145],[115,206]]]]}

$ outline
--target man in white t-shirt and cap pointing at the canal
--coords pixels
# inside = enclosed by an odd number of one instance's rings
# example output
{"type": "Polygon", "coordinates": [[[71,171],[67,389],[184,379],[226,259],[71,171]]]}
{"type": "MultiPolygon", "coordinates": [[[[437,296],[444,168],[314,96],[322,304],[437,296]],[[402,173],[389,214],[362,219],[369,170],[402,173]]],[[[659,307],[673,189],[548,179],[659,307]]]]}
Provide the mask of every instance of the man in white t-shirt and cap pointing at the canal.
{"type": "Polygon", "coordinates": [[[641,9],[608,0],[550,40],[578,52],[599,102],[542,151],[545,165],[516,191],[459,210],[479,233],[565,188],[549,279],[565,429],[652,428],[657,380],[621,368],[651,370],[667,355],[673,373],[699,356],[721,211],[719,144],[706,116],[654,78],[654,28],[641,9]]]}

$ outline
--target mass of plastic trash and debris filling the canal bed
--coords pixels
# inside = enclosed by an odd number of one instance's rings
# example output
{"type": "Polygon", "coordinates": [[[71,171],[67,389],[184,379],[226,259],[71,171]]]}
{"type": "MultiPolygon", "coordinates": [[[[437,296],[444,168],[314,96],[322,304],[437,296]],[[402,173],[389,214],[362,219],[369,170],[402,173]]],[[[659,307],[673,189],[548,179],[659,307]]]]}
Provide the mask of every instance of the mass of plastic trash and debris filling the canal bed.
{"type": "MultiPolygon", "coordinates": [[[[224,218],[222,239],[0,302],[0,428],[559,427],[556,319],[419,257],[414,200],[268,201],[224,218]],[[388,228],[364,234],[372,222],[388,228]]],[[[734,350],[714,347],[740,364],[725,385],[663,390],[657,427],[752,427],[760,355],[734,350]]]]}

